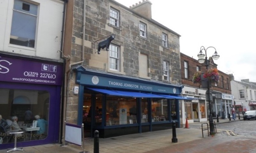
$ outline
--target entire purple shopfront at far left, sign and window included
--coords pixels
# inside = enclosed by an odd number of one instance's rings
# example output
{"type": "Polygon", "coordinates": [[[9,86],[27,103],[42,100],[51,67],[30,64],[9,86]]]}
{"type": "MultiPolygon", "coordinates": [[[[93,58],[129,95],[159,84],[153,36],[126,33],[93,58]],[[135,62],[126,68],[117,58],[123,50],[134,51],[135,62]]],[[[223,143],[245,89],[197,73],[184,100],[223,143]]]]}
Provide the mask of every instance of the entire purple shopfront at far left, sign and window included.
{"type": "Polygon", "coordinates": [[[0,149],[13,147],[15,116],[25,131],[17,147],[59,141],[62,80],[61,62],[0,54],[0,149]]]}

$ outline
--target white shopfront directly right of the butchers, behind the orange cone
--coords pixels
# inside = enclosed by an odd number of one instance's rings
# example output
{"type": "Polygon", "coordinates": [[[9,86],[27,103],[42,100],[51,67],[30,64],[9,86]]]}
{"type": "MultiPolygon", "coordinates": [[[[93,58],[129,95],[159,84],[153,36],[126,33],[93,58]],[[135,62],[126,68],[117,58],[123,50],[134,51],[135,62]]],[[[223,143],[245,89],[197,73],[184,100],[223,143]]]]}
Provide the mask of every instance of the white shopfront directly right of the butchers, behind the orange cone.
{"type": "Polygon", "coordinates": [[[182,124],[207,121],[205,90],[184,86],[182,96],[192,100],[182,100],[182,124]]]}

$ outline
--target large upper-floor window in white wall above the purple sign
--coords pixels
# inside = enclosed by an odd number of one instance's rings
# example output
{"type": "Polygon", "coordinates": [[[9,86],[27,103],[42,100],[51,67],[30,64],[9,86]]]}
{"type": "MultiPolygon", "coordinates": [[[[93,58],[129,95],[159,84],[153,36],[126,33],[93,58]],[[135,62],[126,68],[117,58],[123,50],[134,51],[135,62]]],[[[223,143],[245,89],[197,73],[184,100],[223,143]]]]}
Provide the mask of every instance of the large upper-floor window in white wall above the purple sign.
{"type": "Polygon", "coordinates": [[[10,44],[35,47],[38,6],[14,0],[10,44]]]}

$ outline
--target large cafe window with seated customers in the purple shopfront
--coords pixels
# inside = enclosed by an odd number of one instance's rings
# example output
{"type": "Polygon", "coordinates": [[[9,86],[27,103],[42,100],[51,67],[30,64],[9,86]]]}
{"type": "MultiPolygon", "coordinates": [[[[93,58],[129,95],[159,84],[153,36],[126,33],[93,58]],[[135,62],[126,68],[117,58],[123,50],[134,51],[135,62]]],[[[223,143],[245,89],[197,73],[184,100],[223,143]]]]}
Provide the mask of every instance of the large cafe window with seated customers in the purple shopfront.
{"type": "Polygon", "coordinates": [[[45,139],[49,118],[48,91],[0,89],[0,137],[13,143],[11,130],[24,130],[17,142],[45,139]]]}

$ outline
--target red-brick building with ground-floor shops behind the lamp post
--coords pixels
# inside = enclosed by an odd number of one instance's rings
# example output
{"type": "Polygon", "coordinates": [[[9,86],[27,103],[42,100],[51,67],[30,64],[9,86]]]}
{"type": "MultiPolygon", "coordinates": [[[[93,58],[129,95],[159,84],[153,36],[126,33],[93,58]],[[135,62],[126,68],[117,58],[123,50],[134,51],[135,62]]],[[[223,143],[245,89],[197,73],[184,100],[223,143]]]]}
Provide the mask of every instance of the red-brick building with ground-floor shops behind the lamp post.
{"type": "MultiPolygon", "coordinates": [[[[217,64],[214,63],[212,57],[209,57],[210,68],[217,68],[217,64]]],[[[209,103],[205,100],[205,92],[207,88],[203,88],[201,84],[193,83],[192,78],[196,71],[202,73],[206,71],[206,67],[200,64],[196,59],[189,57],[183,53],[180,53],[181,63],[181,83],[185,86],[182,89],[182,95],[195,98],[191,101],[182,101],[180,107],[182,109],[182,123],[184,124],[186,118],[188,122],[194,121],[207,121],[207,114],[209,114],[209,103]]],[[[230,76],[220,70],[218,84],[212,83],[210,90],[212,91],[213,102],[212,116],[213,118],[219,117],[227,118],[227,114],[230,113],[230,107],[233,102],[233,95],[231,95],[230,88],[230,76]]]]}

